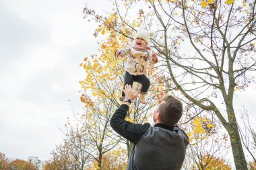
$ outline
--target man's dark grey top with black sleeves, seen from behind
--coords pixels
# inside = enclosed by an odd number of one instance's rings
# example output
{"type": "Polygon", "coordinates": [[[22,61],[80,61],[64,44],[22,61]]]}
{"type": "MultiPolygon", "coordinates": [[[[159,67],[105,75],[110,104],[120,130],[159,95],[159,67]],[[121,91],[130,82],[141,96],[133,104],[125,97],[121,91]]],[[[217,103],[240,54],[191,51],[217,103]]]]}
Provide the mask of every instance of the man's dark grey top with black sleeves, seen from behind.
{"type": "Polygon", "coordinates": [[[128,105],[113,114],[110,126],[133,142],[127,170],[178,170],[185,159],[189,138],[181,128],[164,124],[133,124],[125,121],[128,105]]]}

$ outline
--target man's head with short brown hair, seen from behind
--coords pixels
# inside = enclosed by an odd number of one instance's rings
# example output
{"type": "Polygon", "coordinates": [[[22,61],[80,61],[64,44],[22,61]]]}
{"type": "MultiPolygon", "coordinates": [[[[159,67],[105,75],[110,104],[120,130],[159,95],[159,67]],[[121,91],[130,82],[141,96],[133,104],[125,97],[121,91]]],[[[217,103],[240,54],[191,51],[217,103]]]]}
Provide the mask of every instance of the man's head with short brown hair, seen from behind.
{"type": "Polygon", "coordinates": [[[179,122],[183,114],[182,103],[172,96],[167,96],[164,101],[160,103],[158,108],[161,122],[167,126],[174,126],[179,122]]]}

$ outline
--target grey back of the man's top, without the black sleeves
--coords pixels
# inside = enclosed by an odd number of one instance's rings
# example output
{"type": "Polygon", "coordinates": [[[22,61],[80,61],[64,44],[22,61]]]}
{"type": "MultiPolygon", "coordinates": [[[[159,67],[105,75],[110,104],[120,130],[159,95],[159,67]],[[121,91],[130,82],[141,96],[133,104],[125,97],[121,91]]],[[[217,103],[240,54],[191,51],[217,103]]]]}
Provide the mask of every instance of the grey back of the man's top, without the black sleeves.
{"type": "Polygon", "coordinates": [[[127,169],[179,170],[188,144],[187,135],[177,127],[173,131],[150,127],[133,145],[127,169]]]}

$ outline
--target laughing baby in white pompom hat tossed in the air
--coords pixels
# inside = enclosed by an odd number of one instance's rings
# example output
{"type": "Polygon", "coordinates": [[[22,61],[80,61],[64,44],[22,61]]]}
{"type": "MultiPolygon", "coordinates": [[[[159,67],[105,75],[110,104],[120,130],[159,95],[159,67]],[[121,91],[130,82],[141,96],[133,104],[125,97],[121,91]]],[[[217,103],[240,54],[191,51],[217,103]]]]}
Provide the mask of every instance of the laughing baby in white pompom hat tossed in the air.
{"type": "MultiPolygon", "coordinates": [[[[125,63],[125,85],[133,85],[133,82],[141,83],[141,92],[139,93],[139,100],[146,104],[146,94],[150,88],[150,80],[146,77],[148,62],[156,63],[158,58],[156,53],[152,52],[150,46],[150,37],[154,36],[154,32],[146,30],[139,30],[135,35],[135,41],[129,48],[117,50],[116,56],[127,56],[125,63]]],[[[122,92],[120,101],[125,99],[125,93],[122,92]]]]}

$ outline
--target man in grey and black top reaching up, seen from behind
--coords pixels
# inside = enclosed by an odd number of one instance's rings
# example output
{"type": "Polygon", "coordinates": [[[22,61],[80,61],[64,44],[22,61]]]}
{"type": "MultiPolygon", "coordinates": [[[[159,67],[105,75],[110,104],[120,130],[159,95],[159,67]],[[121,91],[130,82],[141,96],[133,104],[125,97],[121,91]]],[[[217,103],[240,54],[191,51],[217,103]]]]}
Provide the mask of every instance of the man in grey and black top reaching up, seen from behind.
{"type": "Polygon", "coordinates": [[[127,163],[128,170],[178,170],[185,159],[189,138],[176,125],[183,114],[181,101],[172,96],[157,95],[158,106],[153,114],[155,125],[125,121],[129,105],[137,97],[131,85],[125,85],[125,100],[110,120],[110,126],[133,142],[127,163]]]}

